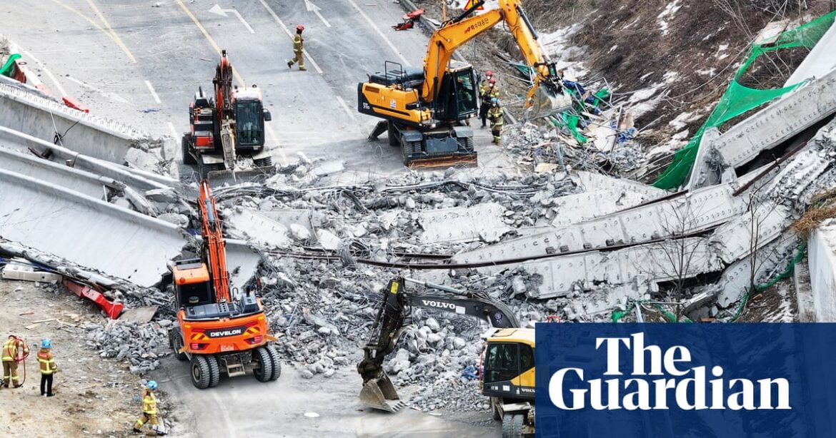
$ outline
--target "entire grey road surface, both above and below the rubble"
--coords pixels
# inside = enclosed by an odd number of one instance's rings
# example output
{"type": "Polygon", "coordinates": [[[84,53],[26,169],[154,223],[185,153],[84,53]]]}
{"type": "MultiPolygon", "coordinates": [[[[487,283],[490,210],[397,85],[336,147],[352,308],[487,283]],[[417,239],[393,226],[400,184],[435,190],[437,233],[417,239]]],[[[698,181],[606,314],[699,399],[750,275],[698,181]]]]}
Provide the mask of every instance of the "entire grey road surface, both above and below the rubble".
{"type": "MultiPolygon", "coordinates": [[[[219,1],[24,0],[3,3],[0,20],[3,35],[23,48],[52,94],[167,136],[169,158],[179,159],[188,104],[198,87],[212,89],[223,48],[237,85],[262,88],[273,113],[267,139],[276,163],[293,162],[302,152],[343,162],[349,179],[405,171],[397,149],[366,141],[377,119],[356,111],[357,83],[382,70],[385,60],[421,65],[426,35],[390,28],[404,13],[400,5],[313,0],[321,9],[309,11],[305,0],[219,1]],[[306,29],[307,72],[286,64],[293,56],[290,33],[299,23],[306,29]]],[[[487,130],[476,132],[480,169],[474,171],[511,171],[487,130]]],[[[188,366],[171,359],[152,377],[169,393],[177,435],[500,435],[499,425],[482,414],[362,410],[355,400],[360,379],[350,369],[302,380],[285,365],[276,382],[247,376],[200,391],[189,381],[188,366]],[[304,416],[308,412],[319,417],[304,416]]]]}

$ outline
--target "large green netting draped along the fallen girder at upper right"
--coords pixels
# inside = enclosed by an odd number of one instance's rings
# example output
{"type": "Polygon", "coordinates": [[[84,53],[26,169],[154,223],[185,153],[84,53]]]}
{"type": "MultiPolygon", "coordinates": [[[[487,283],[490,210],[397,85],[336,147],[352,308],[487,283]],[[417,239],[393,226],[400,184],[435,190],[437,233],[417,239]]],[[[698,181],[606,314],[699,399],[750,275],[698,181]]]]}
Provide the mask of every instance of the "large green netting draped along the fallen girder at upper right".
{"type": "Polygon", "coordinates": [[[817,18],[810,23],[803,24],[798,28],[781,33],[775,41],[752,44],[752,47],[749,48],[746,61],[737,69],[732,83],[726,88],[726,93],[723,93],[714,111],[711,112],[706,122],[696,131],[696,134],[694,134],[694,137],[691,138],[688,144],[684,148],[676,151],[673,163],[665,169],[665,172],[660,174],[653,185],[660,189],[675,189],[686,181],[696,159],[696,151],[700,147],[702,134],[707,128],[716,128],[722,123],[726,123],[726,121],[742,113],[746,113],[752,108],[757,108],[773,98],[777,98],[783,93],[787,93],[801,85],[802,83],[795,83],[784,88],[757,89],[742,85],[738,82],[738,79],[764,53],[775,52],[786,48],[813,48],[824,33],[828,31],[828,28],[833,25],[834,17],[836,17],[836,11],[817,18]]]}

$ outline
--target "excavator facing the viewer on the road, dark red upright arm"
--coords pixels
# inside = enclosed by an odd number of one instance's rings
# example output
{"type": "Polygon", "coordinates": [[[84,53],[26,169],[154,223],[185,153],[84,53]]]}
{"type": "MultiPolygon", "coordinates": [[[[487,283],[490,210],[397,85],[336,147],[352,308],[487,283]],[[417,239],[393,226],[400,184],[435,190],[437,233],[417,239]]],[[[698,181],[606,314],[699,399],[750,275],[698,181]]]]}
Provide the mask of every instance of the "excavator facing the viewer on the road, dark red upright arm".
{"type": "Polygon", "coordinates": [[[191,130],[181,140],[183,163],[196,165],[201,180],[225,174],[247,177],[271,173],[273,159],[264,147],[264,123],[272,115],[264,108],[261,90],[255,85],[232,86],[232,64],[226,50],[221,53],[212,83],[213,97],[197,88],[189,103],[191,130]],[[252,167],[237,169],[238,156],[252,158],[252,167]]]}

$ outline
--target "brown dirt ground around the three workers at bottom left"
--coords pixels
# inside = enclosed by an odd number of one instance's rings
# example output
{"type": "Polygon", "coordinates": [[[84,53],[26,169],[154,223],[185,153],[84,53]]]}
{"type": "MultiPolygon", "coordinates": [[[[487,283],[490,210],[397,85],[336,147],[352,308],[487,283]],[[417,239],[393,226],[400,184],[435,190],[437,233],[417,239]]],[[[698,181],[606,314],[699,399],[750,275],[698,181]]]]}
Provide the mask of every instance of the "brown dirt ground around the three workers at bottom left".
{"type": "MultiPolygon", "coordinates": [[[[0,280],[0,337],[22,336],[29,345],[23,388],[0,390],[0,435],[38,437],[128,436],[140,412],[133,401],[140,381],[114,360],[85,345],[85,325],[106,320],[89,302],[63,288],[0,280]],[[43,321],[43,322],[38,322],[43,321]],[[38,343],[53,341],[59,373],[54,397],[40,395],[38,343]]],[[[23,376],[23,365],[18,369],[23,376]]],[[[135,435],[134,435],[135,436],[135,435]]]]}

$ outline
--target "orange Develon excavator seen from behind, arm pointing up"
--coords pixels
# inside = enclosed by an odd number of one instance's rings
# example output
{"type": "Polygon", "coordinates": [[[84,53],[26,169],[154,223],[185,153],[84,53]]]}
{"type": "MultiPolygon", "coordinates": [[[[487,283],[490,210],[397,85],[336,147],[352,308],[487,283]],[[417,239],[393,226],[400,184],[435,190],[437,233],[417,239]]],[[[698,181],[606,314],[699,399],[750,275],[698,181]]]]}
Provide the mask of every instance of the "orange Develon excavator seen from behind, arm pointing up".
{"type": "Polygon", "coordinates": [[[171,267],[178,326],[169,332],[178,360],[191,361],[191,383],[198,389],[217,385],[252,370],[258,381],[278,379],[281,358],[270,341],[264,306],[254,288],[230,289],[227,251],[215,198],[201,181],[197,202],[203,244],[200,259],[171,267]]]}

